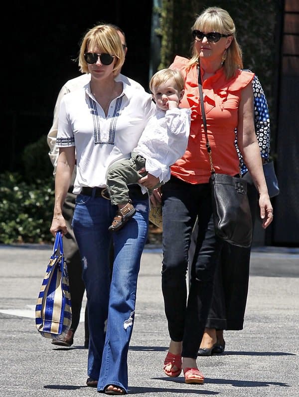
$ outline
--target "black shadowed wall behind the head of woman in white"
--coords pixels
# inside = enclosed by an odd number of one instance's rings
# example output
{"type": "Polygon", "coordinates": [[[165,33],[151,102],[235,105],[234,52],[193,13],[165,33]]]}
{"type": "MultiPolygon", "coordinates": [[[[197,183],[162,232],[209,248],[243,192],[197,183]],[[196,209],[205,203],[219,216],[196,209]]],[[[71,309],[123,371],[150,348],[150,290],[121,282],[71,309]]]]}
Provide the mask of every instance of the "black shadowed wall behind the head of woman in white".
{"type": "Polygon", "coordinates": [[[24,146],[47,134],[61,86],[80,74],[72,61],[80,39],[98,22],[125,31],[128,53],[122,72],[148,90],[152,1],[12,0],[6,6],[2,39],[8,73],[2,84],[5,149],[0,172],[17,171],[24,146]]]}

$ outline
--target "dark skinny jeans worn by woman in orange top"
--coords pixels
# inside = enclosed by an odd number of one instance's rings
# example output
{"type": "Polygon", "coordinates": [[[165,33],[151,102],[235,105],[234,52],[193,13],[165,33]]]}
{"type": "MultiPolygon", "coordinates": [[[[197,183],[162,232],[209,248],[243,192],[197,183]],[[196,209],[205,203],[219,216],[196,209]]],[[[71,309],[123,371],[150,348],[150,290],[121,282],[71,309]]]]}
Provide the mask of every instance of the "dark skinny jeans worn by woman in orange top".
{"type": "Polygon", "coordinates": [[[170,338],[183,342],[182,357],[196,359],[213,294],[217,256],[208,184],[191,185],[171,177],[162,186],[162,293],[170,338]],[[186,274],[191,232],[198,216],[198,237],[187,298],[186,274]]]}

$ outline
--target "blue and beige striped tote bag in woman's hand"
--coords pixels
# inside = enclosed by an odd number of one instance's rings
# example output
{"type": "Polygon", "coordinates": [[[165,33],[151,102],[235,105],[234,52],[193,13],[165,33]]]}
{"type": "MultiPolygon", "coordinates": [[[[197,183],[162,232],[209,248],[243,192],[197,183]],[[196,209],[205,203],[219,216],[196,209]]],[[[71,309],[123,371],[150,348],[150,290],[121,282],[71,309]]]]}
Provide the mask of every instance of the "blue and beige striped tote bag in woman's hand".
{"type": "Polygon", "coordinates": [[[72,321],[71,296],[62,235],[58,231],[35,307],[35,325],[45,338],[63,339],[72,321]]]}

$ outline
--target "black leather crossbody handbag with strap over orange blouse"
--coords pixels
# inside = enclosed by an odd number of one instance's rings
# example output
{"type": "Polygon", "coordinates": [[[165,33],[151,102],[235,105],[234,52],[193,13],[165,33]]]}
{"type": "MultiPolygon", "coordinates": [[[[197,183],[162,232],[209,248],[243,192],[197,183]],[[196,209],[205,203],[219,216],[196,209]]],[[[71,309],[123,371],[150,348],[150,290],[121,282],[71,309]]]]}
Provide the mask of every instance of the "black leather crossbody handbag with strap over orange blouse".
{"type": "Polygon", "coordinates": [[[213,167],[212,151],[208,140],[200,72],[198,87],[206,148],[211,165],[212,207],[215,233],[223,240],[239,247],[250,247],[252,241],[252,219],[247,196],[247,182],[242,178],[217,174],[213,167]]]}

